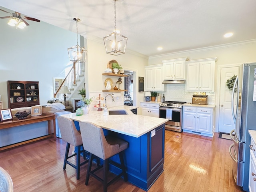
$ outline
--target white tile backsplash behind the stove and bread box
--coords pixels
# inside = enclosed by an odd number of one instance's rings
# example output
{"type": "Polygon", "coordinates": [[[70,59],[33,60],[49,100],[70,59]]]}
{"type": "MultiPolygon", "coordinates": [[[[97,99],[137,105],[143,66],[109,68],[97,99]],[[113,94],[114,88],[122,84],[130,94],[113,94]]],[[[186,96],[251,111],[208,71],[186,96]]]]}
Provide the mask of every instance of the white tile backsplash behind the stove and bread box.
{"type": "MultiPolygon", "coordinates": [[[[166,84],[165,86],[166,91],[159,93],[161,94],[161,98],[164,94],[166,101],[183,101],[187,103],[192,102],[194,92],[186,92],[185,84],[166,84]]],[[[215,93],[206,92],[206,95],[208,95],[208,104],[215,104],[215,93]]]]}

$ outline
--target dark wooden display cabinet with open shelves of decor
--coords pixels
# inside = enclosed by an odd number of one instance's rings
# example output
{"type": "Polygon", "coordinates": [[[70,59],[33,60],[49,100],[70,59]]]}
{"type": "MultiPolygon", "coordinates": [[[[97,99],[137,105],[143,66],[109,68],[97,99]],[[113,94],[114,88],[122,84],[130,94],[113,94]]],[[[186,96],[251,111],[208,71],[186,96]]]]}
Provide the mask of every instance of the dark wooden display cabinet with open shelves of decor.
{"type": "Polygon", "coordinates": [[[39,105],[38,81],[7,81],[8,108],[39,105]]]}

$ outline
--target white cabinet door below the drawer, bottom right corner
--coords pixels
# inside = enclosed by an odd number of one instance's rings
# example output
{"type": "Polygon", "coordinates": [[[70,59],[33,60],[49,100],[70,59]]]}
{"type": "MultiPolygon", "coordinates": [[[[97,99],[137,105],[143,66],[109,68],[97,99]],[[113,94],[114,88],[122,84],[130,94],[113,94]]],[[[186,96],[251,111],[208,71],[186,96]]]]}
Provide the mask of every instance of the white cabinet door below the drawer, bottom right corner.
{"type": "Polygon", "coordinates": [[[256,176],[253,174],[256,174],[256,160],[254,157],[254,154],[252,150],[250,150],[250,169],[249,169],[249,191],[255,192],[255,186],[256,186],[256,176]]]}

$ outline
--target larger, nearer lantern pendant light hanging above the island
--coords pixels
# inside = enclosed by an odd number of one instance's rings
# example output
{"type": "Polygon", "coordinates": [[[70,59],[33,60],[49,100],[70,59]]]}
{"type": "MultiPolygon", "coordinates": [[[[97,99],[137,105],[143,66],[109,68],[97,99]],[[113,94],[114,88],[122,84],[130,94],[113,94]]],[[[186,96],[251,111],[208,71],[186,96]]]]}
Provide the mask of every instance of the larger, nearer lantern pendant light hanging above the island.
{"type": "Polygon", "coordinates": [[[103,38],[104,45],[107,54],[120,55],[124,54],[126,50],[127,37],[116,31],[116,1],[114,0],[114,10],[115,10],[115,30],[111,34],[103,38]]]}

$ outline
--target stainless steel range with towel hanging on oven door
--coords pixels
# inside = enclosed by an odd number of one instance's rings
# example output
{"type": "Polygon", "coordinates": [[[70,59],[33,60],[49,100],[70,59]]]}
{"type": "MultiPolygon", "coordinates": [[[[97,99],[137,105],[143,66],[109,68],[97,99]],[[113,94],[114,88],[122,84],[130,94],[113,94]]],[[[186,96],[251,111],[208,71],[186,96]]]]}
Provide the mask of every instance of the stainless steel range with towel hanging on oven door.
{"type": "Polygon", "coordinates": [[[159,104],[160,118],[168,119],[165,129],[182,132],[182,104],[186,102],[165,101],[159,104]]]}

